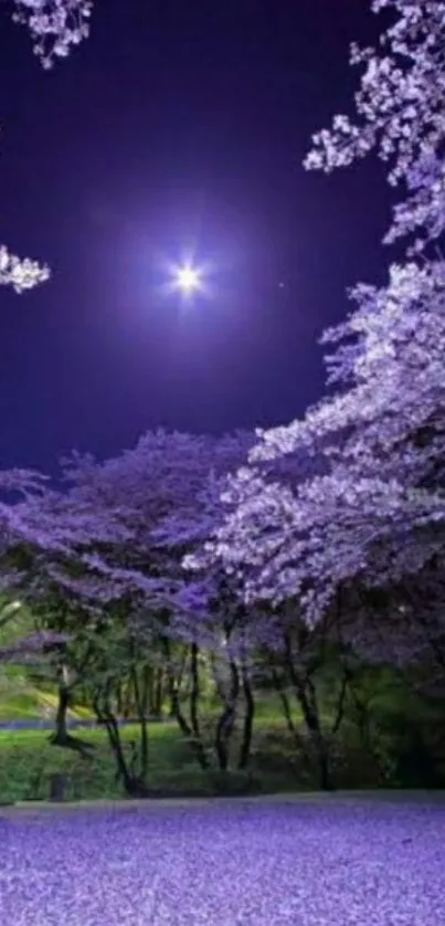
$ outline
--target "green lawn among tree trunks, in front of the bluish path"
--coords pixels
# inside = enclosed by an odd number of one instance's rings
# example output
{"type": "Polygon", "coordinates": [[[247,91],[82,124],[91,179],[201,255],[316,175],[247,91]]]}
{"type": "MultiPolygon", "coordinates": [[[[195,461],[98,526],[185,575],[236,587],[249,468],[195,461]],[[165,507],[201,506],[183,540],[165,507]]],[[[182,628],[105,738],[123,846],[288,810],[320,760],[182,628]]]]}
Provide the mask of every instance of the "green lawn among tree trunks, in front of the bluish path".
{"type": "MultiPolygon", "coordinates": [[[[155,793],[211,796],[218,792],[216,769],[203,772],[183,738],[177,724],[148,725],[149,771],[148,783],[155,793]]],[[[203,724],[204,739],[211,746],[212,718],[203,724]]],[[[106,732],[102,728],[82,728],[75,736],[95,746],[91,761],[71,749],[49,743],[49,730],[0,730],[0,801],[44,800],[49,797],[50,778],[64,774],[70,800],[116,799],[124,796],[120,783],[116,783],[116,767],[109,749],[106,732]]],[[[130,743],[138,739],[138,727],[123,727],[120,730],[124,749],[129,755],[130,743]]],[[[305,781],[293,772],[286,751],[285,730],[277,730],[277,723],[271,726],[258,720],[253,740],[252,775],[259,791],[293,790],[304,787],[305,781]],[[283,739],[284,736],[284,739],[283,739]],[[279,740],[280,747],[275,749],[279,740]]],[[[239,746],[239,733],[234,736],[234,748],[239,746]]],[[[230,787],[236,790],[245,776],[233,772],[230,787]]],[[[307,785],[307,782],[306,782],[307,785]]]]}

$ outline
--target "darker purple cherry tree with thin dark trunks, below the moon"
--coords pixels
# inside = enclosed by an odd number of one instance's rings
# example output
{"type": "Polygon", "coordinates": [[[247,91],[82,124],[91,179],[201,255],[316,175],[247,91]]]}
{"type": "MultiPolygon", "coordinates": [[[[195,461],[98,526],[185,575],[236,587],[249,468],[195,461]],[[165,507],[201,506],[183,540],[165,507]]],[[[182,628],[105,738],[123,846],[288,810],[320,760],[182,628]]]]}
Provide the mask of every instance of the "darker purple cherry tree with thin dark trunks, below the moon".
{"type": "MultiPolygon", "coordinates": [[[[202,767],[208,766],[198,717],[201,650],[212,654],[223,702],[215,745],[225,768],[235,703],[241,692],[251,694],[246,663],[240,645],[235,653],[231,638],[239,602],[231,589],[222,600],[221,568],[195,579],[181,564],[183,554],[220,524],[227,473],[245,462],[253,442],[253,433],[213,438],[160,430],[105,463],[74,454],[64,461],[66,494],[53,496],[46,490],[13,513],[17,535],[21,532],[34,551],[28,580],[34,602],[42,594],[47,612],[49,590],[66,599],[73,614],[78,609],[81,634],[85,619],[91,629],[107,621],[106,649],[100,649],[96,634],[88,665],[93,666],[95,709],[107,726],[125,780],[110,692],[125,673],[133,673],[136,682],[137,663],[149,665],[159,657],[167,670],[174,716],[202,767]],[[46,536],[50,516],[53,526],[46,536]],[[189,650],[191,673],[190,724],[176,681],[177,655],[183,646],[189,650]]],[[[52,629],[76,636],[72,622],[55,623],[52,629]]],[[[246,743],[251,733],[247,725],[246,743]]],[[[243,761],[246,753],[247,747],[243,761]]],[[[141,781],[136,786],[140,790],[141,781]]]]}

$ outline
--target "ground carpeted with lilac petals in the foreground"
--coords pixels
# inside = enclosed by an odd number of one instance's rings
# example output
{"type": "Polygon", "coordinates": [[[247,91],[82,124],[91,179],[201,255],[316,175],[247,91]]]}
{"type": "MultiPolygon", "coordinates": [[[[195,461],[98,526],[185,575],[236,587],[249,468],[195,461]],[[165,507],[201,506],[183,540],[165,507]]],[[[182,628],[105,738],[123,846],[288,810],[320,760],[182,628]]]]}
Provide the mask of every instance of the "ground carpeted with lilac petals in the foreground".
{"type": "Polygon", "coordinates": [[[445,804],[0,813],[1,926],[439,926],[445,804]]]}

